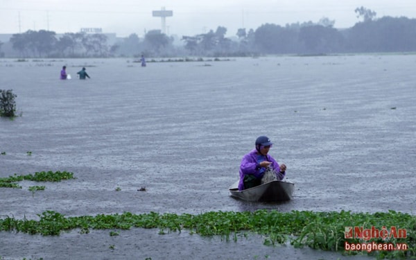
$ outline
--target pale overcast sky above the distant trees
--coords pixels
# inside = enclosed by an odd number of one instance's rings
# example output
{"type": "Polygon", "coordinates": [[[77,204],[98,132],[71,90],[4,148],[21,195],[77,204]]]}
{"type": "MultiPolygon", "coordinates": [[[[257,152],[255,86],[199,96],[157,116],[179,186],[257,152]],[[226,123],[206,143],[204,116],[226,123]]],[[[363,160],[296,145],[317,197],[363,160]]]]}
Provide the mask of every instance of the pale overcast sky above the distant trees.
{"type": "Polygon", "coordinates": [[[117,36],[142,36],[162,28],[161,19],[152,17],[162,7],[173,11],[173,17],[166,17],[166,33],[180,37],[218,26],[234,36],[238,28],[318,22],[322,17],[335,20],[336,28],[348,28],[359,21],[354,10],[361,6],[376,17],[416,17],[415,0],[0,0],[0,33],[102,28],[117,36]]]}

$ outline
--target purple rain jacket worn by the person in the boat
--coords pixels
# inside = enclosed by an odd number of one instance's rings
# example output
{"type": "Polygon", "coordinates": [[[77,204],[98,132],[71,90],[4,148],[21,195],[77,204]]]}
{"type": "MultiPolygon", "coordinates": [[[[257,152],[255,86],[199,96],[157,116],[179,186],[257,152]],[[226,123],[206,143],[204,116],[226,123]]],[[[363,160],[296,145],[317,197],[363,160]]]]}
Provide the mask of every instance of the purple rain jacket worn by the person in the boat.
{"type": "MultiPolygon", "coordinates": [[[[239,191],[242,191],[244,189],[243,180],[245,175],[252,174],[254,175],[254,177],[257,177],[259,179],[263,177],[264,171],[261,171],[261,169],[257,169],[257,155],[257,150],[254,149],[247,155],[244,155],[243,159],[241,160],[239,191]]],[[[273,157],[271,157],[270,155],[266,155],[266,158],[268,162],[272,162],[271,166],[273,170],[275,170],[276,172],[277,179],[282,180],[286,173],[280,173],[280,166],[273,157]]]]}

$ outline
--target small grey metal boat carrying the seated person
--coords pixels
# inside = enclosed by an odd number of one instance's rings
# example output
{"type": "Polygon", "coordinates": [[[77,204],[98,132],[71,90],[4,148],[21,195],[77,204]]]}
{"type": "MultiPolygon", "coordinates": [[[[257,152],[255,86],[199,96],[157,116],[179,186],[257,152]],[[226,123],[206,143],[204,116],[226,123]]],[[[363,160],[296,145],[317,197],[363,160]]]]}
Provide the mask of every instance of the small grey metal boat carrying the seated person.
{"type": "Polygon", "coordinates": [[[239,181],[229,187],[231,196],[247,201],[283,201],[293,198],[293,190],[295,184],[292,182],[283,182],[281,180],[273,180],[266,182],[250,189],[239,191],[239,181]]]}

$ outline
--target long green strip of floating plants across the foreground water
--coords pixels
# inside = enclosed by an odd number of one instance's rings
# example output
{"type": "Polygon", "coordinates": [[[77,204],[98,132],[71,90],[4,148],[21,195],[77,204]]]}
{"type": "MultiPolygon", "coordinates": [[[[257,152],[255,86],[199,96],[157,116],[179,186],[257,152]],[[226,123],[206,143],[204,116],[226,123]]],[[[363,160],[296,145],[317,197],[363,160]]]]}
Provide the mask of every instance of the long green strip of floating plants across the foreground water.
{"type": "MultiPolygon", "coordinates": [[[[368,254],[378,258],[413,258],[416,256],[416,216],[396,211],[385,213],[352,213],[257,210],[245,212],[207,212],[199,215],[191,214],[123,214],[66,217],[55,211],[44,211],[38,214],[40,220],[17,220],[6,217],[0,219],[0,231],[25,232],[44,236],[59,235],[62,231],[80,229],[88,233],[89,229],[130,229],[132,227],[159,228],[159,234],[181,232],[189,229],[190,233],[201,236],[220,236],[229,241],[237,240],[238,236],[248,233],[264,236],[265,245],[290,243],[295,248],[305,245],[314,249],[345,252],[348,243],[406,243],[407,250],[373,251],[368,254]],[[363,239],[353,237],[345,239],[345,227],[363,227],[364,229],[387,229],[386,239],[373,237],[363,239]],[[405,237],[395,237],[391,228],[406,229],[405,237]]],[[[356,251],[346,252],[356,254],[356,251]]]]}

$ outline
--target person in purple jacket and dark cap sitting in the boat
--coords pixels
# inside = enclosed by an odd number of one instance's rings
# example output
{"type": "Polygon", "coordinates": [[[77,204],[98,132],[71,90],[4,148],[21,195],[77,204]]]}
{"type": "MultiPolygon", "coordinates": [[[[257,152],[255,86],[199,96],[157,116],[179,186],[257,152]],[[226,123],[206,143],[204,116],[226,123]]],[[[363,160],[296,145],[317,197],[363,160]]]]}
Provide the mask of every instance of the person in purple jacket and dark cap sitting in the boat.
{"type": "Polygon", "coordinates": [[[260,185],[261,178],[269,167],[275,172],[277,180],[284,178],[286,165],[279,165],[273,157],[268,155],[272,145],[273,143],[268,137],[258,137],[256,139],[256,148],[244,155],[240,165],[239,191],[260,185]]]}

